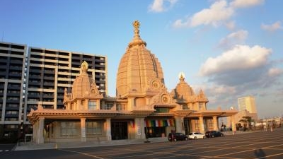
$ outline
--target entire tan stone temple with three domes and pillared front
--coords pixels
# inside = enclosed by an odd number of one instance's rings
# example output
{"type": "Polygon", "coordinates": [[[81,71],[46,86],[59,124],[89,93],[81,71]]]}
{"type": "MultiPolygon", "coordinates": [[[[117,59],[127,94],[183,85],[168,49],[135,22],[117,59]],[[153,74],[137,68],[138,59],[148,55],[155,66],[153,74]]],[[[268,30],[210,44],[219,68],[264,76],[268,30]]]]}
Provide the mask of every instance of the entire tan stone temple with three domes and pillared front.
{"type": "Polygon", "coordinates": [[[28,114],[35,143],[146,139],[166,137],[171,131],[204,133],[219,129],[219,117],[233,119],[236,110],[207,110],[206,95],[202,90],[195,93],[183,73],[169,92],[161,63],[139,36],[139,21],[133,25],[134,38],[117,71],[116,97],[100,93],[83,61],[71,92],[64,91],[64,110],[39,105],[28,114]]]}

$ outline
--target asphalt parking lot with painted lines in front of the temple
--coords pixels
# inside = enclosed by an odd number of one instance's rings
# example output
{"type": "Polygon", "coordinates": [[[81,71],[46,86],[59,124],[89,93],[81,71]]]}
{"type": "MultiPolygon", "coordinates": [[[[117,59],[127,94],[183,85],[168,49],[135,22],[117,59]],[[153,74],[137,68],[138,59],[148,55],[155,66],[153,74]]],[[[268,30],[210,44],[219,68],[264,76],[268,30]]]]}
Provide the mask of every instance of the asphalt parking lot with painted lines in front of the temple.
{"type": "Polygon", "coordinates": [[[283,129],[236,134],[224,137],[140,143],[124,146],[59,148],[33,151],[11,151],[1,158],[283,158],[283,129]]]}

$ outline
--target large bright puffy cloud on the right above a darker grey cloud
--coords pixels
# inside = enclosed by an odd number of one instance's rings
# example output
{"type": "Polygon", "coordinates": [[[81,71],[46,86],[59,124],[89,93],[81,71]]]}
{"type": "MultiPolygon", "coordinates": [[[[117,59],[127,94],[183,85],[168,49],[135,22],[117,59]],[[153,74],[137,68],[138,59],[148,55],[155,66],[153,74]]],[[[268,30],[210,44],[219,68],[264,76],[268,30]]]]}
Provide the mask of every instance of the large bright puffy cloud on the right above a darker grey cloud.
{"type": "Polygon", "coordinates": [[[255,45],[236,45],[233,49],[221,54],[219,57],[210,57],[201,66],[200,75],[210,76],[214,73],[225,73],[244,69],[255,69],[267,64],[271,49],[255,45]]]}

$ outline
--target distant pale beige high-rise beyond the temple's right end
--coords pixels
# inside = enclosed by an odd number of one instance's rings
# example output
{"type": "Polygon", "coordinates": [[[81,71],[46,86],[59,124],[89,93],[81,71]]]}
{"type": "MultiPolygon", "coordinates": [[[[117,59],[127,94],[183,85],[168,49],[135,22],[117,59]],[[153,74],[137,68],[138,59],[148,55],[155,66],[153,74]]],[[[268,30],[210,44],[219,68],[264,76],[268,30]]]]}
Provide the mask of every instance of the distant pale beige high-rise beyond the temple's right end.
{"type": "Polygon", "coordinates": [[[255,107],[255,98],[253,96],[246,96],[238,98],[238,111],[248,110],[250,113],[258,113],[255,107]]]}

